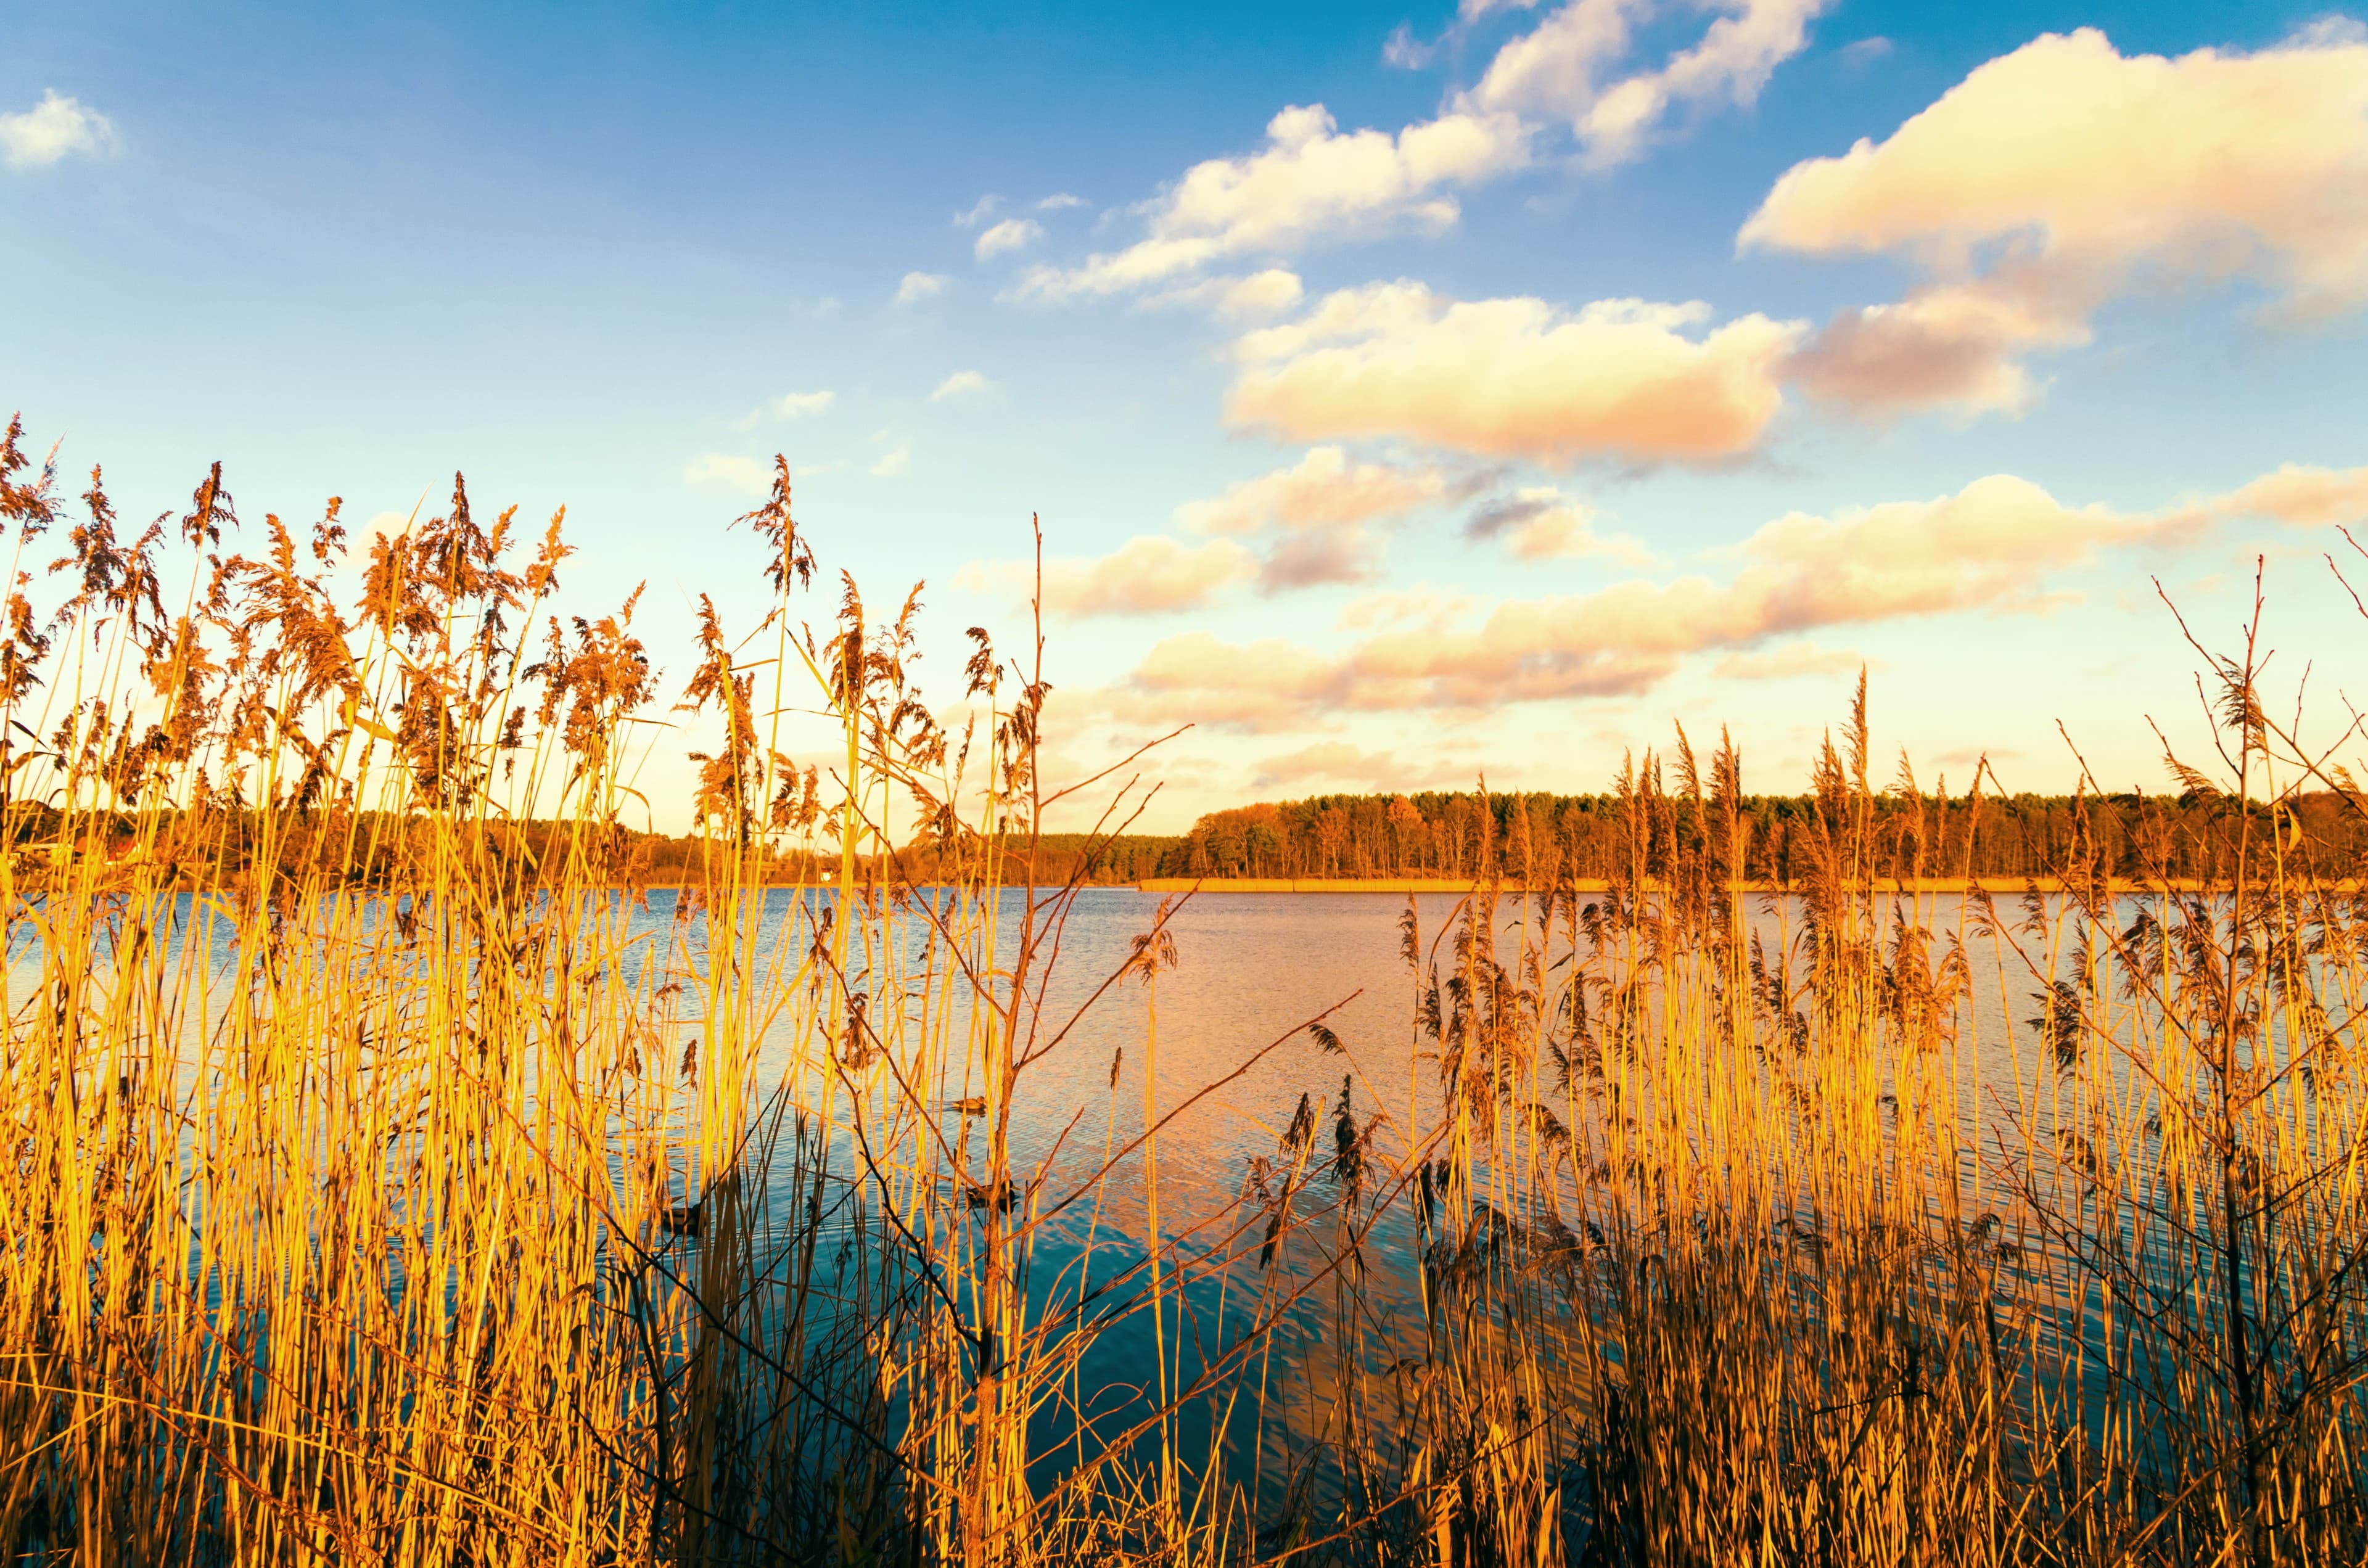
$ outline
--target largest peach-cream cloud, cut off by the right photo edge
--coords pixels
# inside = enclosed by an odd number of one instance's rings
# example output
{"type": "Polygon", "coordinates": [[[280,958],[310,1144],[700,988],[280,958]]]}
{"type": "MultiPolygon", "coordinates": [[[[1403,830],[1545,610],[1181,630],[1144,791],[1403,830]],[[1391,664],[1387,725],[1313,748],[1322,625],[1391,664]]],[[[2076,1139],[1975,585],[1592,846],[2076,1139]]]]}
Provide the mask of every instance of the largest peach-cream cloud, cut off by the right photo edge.
{"type": "Polygon", "coordinates": [[[2084,343],[2138,284],[2252,279],[2287,315],[2368,306],[2368,40],[2119,54],[2048,33],[1883,142],[1785,171],[1745,249],[1904,256],[1928,279],[1838,315],[1795,360],[1819,396],[2020,410],[2022,358],[2084,343]]]}

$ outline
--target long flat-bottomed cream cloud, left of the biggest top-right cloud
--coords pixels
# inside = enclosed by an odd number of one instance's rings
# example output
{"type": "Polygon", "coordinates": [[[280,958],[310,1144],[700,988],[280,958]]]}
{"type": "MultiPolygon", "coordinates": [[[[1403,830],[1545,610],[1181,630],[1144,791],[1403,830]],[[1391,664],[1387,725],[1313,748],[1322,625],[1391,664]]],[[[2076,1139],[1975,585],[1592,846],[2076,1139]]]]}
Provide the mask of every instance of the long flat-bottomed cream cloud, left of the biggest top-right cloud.
{"type": "Polygon", "coordinates": [[[1710,306],[1449,301],[1423,284],[1328,294],[1246,334],[1227,422],[1298,441],[1399,436],[1546,467],[1717,462],[1752,450],[1804,334],[1710,306]]]}

